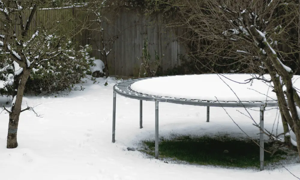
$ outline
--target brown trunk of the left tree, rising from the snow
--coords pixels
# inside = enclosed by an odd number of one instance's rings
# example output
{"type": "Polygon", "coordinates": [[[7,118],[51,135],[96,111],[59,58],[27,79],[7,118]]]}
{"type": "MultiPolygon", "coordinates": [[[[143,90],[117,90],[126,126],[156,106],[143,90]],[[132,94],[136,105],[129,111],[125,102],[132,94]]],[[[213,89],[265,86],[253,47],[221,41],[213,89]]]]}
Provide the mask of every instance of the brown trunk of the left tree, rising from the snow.
{"type": "Polygon", "coordinates": [[[7,133],[7,145],[6,148],[12,149],[18,146],[17,142],[17,132],[19,117],[21,113],[21,105],[23,100],[23,93],[27,79],[29,77],[30,70],[26,67],[23,68],[23,72],[19,76],[15,76],[13,82],[13,87],[17,89],[14,92],[13,98],[16,98],[15,104],[12,104],[11,112],[9,113],[9,122],[8,122],[8,133],[7,133]]]}

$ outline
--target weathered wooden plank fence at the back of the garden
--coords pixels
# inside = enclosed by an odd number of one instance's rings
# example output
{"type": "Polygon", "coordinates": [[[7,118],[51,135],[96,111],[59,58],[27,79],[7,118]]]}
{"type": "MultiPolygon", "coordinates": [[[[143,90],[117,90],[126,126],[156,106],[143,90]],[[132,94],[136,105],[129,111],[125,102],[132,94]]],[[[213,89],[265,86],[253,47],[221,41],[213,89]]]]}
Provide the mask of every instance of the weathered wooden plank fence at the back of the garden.
{"type": "MultiPolygon", "coordinates": [[[[23,14],[23,16],[23,19],[28,19],[29,12],[23,14]]],[[[35,27],[41,22],[55,22],[55,19],[63,20],[69,16],[76,16],[78,19],[84,20],[86,14],[76,12],[73,8],[38,10],[34,16],[30,33],[34,33],[35,27]]],[[[105,13],[102,16],[104,17],[103,19],[105,19],[101,23],[101,28],[103,28],[104,32],[104,41],[109,36],[118,36],[112,46],[112,51],[107,57],[111,75],[139,75],[142,63],[143,43],[146,36],[148,37],[148,47],[152,59],[154,60],[155,50],[160,57],[164,55],[161,60],[161,67],[163,70],[181,64],[179,54],[185,54],[185,49],[183,45],[179,43],[173,30],[164,28],[162,25],[164,19],[160,15],[157,15],[154,20],[150,20],[147,16],[140,14],[138,10],[122,9],[117,17],[105,13]]],[[[92,18],[92,16],[89,16],[89,20],[92,20],[92,18]]],[[[54,25],[48,24],[48,26],[54,25]]],[[[74,26],[74,24],[65,22],[64,26],[70,28],[74,26]]],[[[20,32],[19,28],[20,26],[15,25],[16,32],[20,32]]],[[[72,28],[74,30],[74,27],[72,28]]],[[[89,28],[91,30],[82,31],[82,33],[75,36],[75,40],[82,46],[86,44],[92,45],[93,49],[95,49],[92,52],[92,56],[102,59],[101,53],[97,50],[97,47],[103,50],[103,47],[101,46],[101,41],[103,41],[101,39],[101,34],[99,31],[92,30],[97,28],[99,27],[96,24],[93,24],[89,28]]],[[[141,74],[143,73],[142,67],[141,74]]]]}

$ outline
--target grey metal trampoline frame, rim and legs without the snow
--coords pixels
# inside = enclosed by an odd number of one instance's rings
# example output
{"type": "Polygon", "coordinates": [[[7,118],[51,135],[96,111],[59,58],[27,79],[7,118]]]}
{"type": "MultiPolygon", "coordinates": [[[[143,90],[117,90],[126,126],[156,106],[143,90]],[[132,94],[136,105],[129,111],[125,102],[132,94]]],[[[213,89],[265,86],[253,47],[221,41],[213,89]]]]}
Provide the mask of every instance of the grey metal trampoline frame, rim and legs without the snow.
{"type": "MultiPolygon", "coordinates": [[[[177,76],[189,76],[189,75],[177,75],[177,76]]],[[[166,77],[166,76],[160,76],[166,77]]],[[[260,110],[260,134],[259,134],[259,146],[260,146],[260,170],[264,170],[264,111],[265,107],[278,107],[277,101],[245,101],[245,102],[235,102],[235,101],[201,101],[201,100],[192,100],[192,99],[180,99],[172,97],[161,97],[146,95],[143,93],[136,92],[131,89],[131,85],[134,82],[141,81],[149,78],[157,77],[148,77],[140,79],[129,79],[122,81],[113,86],[113,143],[115,143],[116,135],[116,94],[124,96],[126,98],[140,100],[140,128],[143,128],[143,101],[154,101],[155,102],[155,158],[158,159],[158,104],[159,102],[167,102],[174,104],[185,104],[193,106],[206,106],[206,122],[209,122],[209,107],[259,107],[260,110]]]]}

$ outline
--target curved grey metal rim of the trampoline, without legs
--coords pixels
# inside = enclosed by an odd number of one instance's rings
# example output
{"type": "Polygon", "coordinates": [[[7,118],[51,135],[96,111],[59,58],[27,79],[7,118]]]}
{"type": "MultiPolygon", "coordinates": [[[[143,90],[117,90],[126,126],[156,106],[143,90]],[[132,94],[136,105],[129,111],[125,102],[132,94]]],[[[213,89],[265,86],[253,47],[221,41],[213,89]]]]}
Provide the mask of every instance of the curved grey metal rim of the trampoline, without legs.
{"type": "MultiPolygon", "coordinates": [[[[227,73],[234,74],[234,73],[227,73]]],[[[189,74],[193,75],[193,74],[189,74]]],[[[188,75],[176,75],[176,76],[188,76],[188,75]]],[[[160,76],[166,77],[166,76],[160,76]]],[[[172,97],[161,97],[161,96],[153,96],[146,95],[131,89],[131,85],[134,82],[149,79],[149,78],[157,78],[157,77],[148,77],[148,78],[140,78],[140,79],[129,79],[126,81],[122,81],[113,86],[113,91],[117,94],[124,96],[126,98],[144,100],[144,101],[155,101],[158,102],[167,102],[174,104],[185,104],[185,105],[193,105],[193,106],[208,106],[208,107],[278,107],[278,103],[276,101],[263,101],[263,102],[224,102],[224,101],[201,101],[201,100],[191,100],[191,99],[179,99],[172,97]]]]}

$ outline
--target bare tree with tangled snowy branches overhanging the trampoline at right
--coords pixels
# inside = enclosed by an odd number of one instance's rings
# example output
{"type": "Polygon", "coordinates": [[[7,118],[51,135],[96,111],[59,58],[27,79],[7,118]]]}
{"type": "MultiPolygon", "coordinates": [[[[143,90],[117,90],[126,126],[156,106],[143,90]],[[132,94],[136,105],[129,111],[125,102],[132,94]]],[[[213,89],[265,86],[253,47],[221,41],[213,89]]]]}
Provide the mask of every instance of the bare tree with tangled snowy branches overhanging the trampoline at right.
{"type": "MultiPolygon", "coordinates": [[[[300,156],[300,107],[293,75],[299,65],[299,2],[269,0],[167,1],[191,32],[190,55],[209,58],[204,64],[240,64],[252,73],[271,75],[284,128],[286,146],[297,146],[300,156]],[[175,6],[175,5],[172,5],[175,6]],[[220,63],[220,60],[223,63],[220,63]],[[290,67],[289,67],[290,66],[290,67]],[[290,139],[293,131],[297,143],[290,139]]],[[[213,68],[211,68],[213,70],[213,68]]],[[[236,70],[234,70],[236,71],[236,70]]],[[[267,81],[266,79],[262,79],[267,81]]]]}

